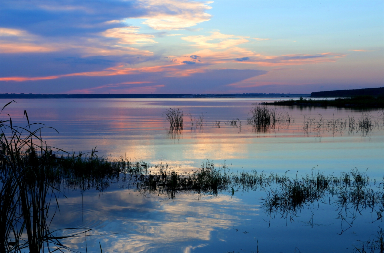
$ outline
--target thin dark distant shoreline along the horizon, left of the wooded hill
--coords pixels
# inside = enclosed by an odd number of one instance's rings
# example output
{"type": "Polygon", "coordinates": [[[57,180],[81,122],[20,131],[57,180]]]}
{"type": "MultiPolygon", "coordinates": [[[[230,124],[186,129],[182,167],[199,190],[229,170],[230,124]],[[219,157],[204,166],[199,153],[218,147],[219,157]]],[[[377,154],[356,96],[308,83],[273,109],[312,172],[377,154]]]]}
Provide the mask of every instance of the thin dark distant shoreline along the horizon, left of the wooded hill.
{"type": "Polygon", "coordinates": [[[0,99],[44,98],[299,98],[311,94],[243,93],[243,94],[16,94],[0,93],[0,99]]]}

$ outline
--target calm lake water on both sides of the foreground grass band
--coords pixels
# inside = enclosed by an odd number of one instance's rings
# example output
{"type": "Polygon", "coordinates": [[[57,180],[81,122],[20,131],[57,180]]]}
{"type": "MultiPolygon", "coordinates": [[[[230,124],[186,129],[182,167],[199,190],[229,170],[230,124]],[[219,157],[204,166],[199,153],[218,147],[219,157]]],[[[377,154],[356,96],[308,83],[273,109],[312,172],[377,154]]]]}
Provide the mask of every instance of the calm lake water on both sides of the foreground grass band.
{"type": "MultiPolygon", "coordinates": [[[[276,107],[276,113],[288,112],[291,123],[257,132],[247,124],[248,112],[252,103],[267,100],[275,99],[19,99],[1,117],[8,113],[13,124],[25,126],[25,109],[30,122],[60,132],[43,131],[48,145],[70,152],[97,146],[100,156],[126,155],[185,171],[209,159],[216,165],[229,164],[233,172],[289,170],[292,177],[311,173],[313,167],[325,175],[356,167],[382,181],[382,112],[276,107]],[[184,112],[181,133],[169,132],[169,122],[164,122],[162,113],[169,108],[184,112]],[[191,127],[189,113],[194,118],[205,113],[202,127],[191,127]],[[362,113],[378,124],[369,132],[349,129],[348,116],[357,122],[362,113]],[[325,123],[318,128],[321,117],[325,123]]],[[[377,184],[371,188],[377,190],[377,184]]],[[[81,252],[100,252],[99,243],[103,252],[256,252],[257,243],[260,252],[354,252],[359,240],[372,238],[383,227],[381,220],[371,223],[376,220],[371,209],[340,219],[331,197],[328,203],[306,206],[292,220],[268,216],[260,200],[265,192],[258,191],[202,198],[179,193],[172,201],[124,189],[119,182],[103,193],[67,190],[66,197],[59,198],[60,215],[51,227],[91,228],[87,242],[84,237],[64,241],[81,252]],[[341,233],[347,223],[351,227],[341,233]]]]}

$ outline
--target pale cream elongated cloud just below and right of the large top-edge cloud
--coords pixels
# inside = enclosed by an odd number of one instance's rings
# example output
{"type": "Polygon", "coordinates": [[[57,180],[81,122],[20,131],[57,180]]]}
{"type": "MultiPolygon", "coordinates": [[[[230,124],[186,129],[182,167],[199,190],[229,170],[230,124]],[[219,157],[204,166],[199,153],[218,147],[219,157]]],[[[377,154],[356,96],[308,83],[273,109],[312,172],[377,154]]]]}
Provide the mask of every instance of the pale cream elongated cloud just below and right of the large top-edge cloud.
{"type": "Polygon", "coordinates": [[[222,34],[219,31],[215,31],[212,35],[194,35],[182,37],[182,40],[195,43],[193,46],[202,48],[229,48],[245,42],[248,42],[247,37],[222,34]]]}

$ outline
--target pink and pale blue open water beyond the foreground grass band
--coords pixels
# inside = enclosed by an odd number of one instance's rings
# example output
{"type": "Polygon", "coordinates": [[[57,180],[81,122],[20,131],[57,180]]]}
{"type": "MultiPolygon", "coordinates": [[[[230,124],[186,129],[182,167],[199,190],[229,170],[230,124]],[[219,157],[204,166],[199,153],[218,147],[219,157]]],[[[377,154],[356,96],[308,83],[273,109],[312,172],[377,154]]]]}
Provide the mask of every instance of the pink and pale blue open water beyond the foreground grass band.
{"type": "MultiPolygon", "coordinates": [[[[97,146],[99,155],[116,158],[126,155],[132,160],[143,159],[157,164],[168,162],[184,169],[200,167],[203,159],[216,164],[226,162],[235,170],[265,170],[300,173],[317,167],[325,172],[349,171],[354,167],[381,178],[384,169],[384,135],[382,128],[374,128],[369,136],[357,131],[306,133],[304,116],[331,120],[354,116],[359,110],[335,107],[276,107],[276,112],[288,111],[295,122],[288,128],[255,132],[247,125],[252,103],[268,99],[20,99],[5,112],[13,122],[26,124],[26,109],[31,122],[55,127],[56,132],[44,132],[48,145],[70,151],[90,151],[97,146]],[[179,138],[169,134],[169,122],[162,113],[169,108],[180,108],[184,114],[198,117],[207,112],[202,129],[191,129],[184,116],[184,131],[179,138]],[[242,128],[225,125],[239,118],[242,128]],[[215,122],[220,121],[220,128],[215,122]]],[[[8,101],[0,100],[5,104],[8,101]]],[[[379,111],[371,111],[378,116],[379,111]]],[[[3,114],[5,115],[5,114],[3,114]]],[[[176,136],[177,137],[177,136],[176,136]]]]}

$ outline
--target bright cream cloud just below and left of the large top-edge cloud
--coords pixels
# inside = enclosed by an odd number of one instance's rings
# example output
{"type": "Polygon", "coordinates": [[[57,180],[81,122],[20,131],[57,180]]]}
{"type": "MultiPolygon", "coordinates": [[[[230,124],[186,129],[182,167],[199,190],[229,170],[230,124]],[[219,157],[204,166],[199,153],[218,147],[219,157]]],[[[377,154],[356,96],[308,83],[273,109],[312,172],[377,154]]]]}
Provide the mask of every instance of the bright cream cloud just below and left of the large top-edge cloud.
{"type": "Polygon", "coordinates": [[[122,28],[112,28],[104,31],[101,35],[118,39],[120,44],[148,44],[157,43],[153,40],[155,36],[138,33],[140,27],[129,26],[122,28]]]}

